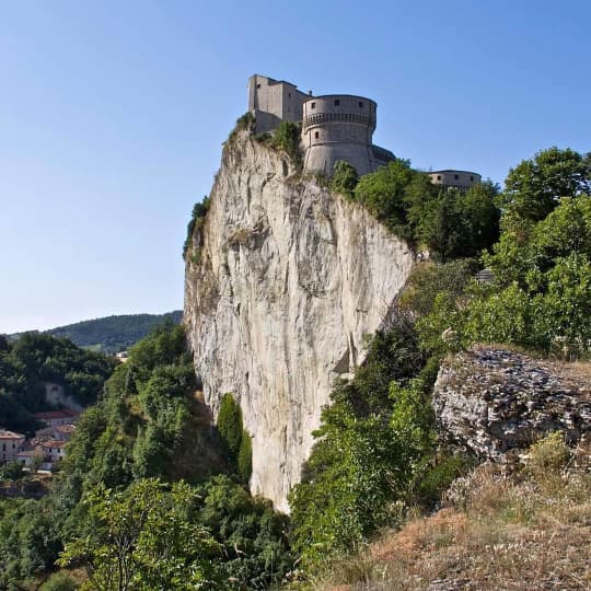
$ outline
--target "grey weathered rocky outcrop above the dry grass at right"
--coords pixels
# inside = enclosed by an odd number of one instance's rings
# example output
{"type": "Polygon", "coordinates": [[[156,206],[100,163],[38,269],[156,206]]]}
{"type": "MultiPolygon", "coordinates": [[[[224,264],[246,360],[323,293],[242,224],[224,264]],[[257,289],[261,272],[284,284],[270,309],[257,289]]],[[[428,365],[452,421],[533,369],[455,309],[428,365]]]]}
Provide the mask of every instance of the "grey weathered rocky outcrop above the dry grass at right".
{"type": "Polygon", "coordinates": [[[509,461],[540,437],[591,432],[587,367],[475,348],[443,362],[433,391],[440,431],[483,460],[509,461]]]}

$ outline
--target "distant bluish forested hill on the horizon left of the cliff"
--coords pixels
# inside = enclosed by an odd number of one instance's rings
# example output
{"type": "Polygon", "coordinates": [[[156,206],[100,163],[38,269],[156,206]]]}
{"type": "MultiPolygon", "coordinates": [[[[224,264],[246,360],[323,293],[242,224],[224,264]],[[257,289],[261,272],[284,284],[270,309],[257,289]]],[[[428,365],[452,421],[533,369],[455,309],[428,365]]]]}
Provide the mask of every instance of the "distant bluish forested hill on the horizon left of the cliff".
{"type": "Polygon", "coordinates": [[[58,326],[45,331],[45,333],[55,337],[69,338],[72,343],[85,349],[115,354],[128,349],[147,336],[155,325],[163,323],[167,318],[175,324],[179,324],[183,312],[175,310],[166,314],[106,316],[68,324],[67,326],[58,326]]]}

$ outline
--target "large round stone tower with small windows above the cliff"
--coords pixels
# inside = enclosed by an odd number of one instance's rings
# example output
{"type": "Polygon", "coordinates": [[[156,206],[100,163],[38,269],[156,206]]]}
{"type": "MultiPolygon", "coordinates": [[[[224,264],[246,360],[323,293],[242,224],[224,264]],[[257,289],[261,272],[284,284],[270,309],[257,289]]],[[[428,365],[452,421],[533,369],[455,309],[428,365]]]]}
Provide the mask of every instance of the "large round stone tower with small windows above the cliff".
{"type": "Polygon", "coordinates": [[[372,150],[376,104],[363,96],[327,94],[303,104],[304,171],[333,175],[338,160],[349,162],[361,176],[376,164],[372,150]]]}

